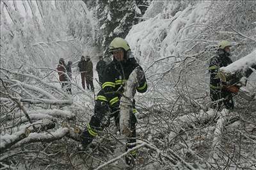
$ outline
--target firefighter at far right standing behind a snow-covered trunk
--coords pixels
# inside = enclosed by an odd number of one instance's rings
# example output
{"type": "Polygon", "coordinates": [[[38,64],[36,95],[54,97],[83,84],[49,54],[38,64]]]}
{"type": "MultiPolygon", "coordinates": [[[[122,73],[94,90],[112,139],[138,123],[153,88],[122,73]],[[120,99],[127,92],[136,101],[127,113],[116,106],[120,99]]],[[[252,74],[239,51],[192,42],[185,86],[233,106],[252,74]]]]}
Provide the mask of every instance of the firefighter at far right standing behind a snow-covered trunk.
{"type": "Polygon", "coordinates": [[[224,82],[221,82],[219,69],[232,63],[230,56],[231,43],[223,40],[218,45],[217,55],[211,59],[209,65],[210,77],[210,95],[212,100],[211,107],[220,110],[224,105],[226,109],[234,109],[232,93],[228,91],[224,82]]]}

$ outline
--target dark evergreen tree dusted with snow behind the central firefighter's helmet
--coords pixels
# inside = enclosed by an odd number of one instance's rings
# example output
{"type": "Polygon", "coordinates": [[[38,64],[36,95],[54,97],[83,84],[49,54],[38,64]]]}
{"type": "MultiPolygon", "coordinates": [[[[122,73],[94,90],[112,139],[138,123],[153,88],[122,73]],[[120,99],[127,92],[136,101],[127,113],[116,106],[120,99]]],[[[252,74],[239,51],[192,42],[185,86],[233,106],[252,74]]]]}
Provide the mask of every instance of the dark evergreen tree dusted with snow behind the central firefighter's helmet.
{"type": "Polygon", "coordinates": [[[147,9],[147,4],[147,1],[97,1],[97,43],[102,45],[104,52],[108,50],[113,38],[125,38],[131,27],[138,23],[147,9]]]}

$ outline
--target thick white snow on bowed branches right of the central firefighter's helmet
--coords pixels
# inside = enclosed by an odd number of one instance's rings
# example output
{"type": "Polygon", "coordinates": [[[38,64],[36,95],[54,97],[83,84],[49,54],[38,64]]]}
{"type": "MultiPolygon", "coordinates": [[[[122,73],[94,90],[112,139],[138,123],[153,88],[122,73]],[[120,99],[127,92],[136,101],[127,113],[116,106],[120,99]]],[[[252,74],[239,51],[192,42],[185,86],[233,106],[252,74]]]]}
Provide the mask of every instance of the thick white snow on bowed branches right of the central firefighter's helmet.
{"type": "MultiPolygon", "coordinates": [[[[195,6],[189,5],[173,16],[169,14],[176,10],[176,2],[154,1],[148,11],[150,8],[156,8],[157,5],[166,6],[167,9],[169,7],[170,10],[157,13],[152,18],[133,26],[125,38],[129,42],[134,56],[140,56],[143,63],[147,63],[148,59],[181,54],[184,50],[182,40],[196,31],[191,24],[200,26],[205,23],[209,2],[202,1],[195,6]]],[[[145,15],[148,16],[148,13],[146,12],[145,15]]]]}

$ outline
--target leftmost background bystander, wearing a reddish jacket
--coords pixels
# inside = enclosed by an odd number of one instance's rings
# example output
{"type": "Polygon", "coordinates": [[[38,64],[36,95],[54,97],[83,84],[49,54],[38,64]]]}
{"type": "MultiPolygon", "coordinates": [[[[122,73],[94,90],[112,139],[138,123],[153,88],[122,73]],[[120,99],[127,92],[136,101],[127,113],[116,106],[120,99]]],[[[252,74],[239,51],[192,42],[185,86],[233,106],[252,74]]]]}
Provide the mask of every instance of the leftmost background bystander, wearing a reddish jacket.
{"type": "Polygon", "coordinates": [[[66,65],[65,65],[65,61],[63,58],[59,59],[59,64],[56,68],[56,70],[58,71],[58,75],[59,75],[59,79],[61,82],[61,88],[63,89],[63,91],[67,91],[68,93],[71,94],[71,88],[68,88],[68,78],[67,78],[67,70],[66,70],[66,65]]]}

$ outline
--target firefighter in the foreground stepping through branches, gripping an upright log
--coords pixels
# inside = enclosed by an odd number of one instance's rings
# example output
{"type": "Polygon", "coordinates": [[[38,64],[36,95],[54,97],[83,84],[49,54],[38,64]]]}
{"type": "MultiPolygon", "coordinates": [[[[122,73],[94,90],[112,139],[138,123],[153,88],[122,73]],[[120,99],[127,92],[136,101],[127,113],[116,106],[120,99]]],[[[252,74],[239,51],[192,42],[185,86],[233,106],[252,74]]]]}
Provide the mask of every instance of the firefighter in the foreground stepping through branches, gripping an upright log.
{"type": "MultiPolygon", "coordinates": [[[[115,117],[116,127],[119,125],[119,102],[124,90],[125,80],[129,78],[131,72],[140,66],[136,59],[134,59],[128,43],[122,38],[115,38],[109,45],[109,51],[113,54],[113,61],[106,66],[103,75],[102,89],[99,91],[96,101],[94,115],[90,123],[87,124],[82,135],[82,146],[86,148],[88,144],[92,143],[93,137],[97,135],[97,130],[102,130],[102,121],[104,116],[109,115],[115,117]]],[[[141,69],[141,79],[137,91],[145,93],[147,91],[147,81],[144,72],[141,69]]],[[[135,105],[135,102],[134,102],[135,105]]],[[[136,112],[134,107],[133,112],[136,112]]],[[[136,117],[134,113],[131,116],[132,136],[136,137],[136,117]]],[[[129,139],[128,143],[135,143],[136,139],[129,139]]],[[[132,148],[132,146],[127,146],[132,148]]],[[[127,164],[131,164],[136,152],[126,157],[127,164]]]]}

